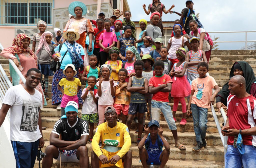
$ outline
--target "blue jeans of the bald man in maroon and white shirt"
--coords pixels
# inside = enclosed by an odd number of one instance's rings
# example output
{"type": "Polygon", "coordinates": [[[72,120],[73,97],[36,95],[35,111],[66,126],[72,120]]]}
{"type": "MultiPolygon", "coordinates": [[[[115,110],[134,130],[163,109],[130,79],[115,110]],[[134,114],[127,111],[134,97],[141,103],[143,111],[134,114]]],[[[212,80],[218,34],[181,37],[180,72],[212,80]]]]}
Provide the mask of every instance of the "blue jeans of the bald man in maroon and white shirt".
{"type": "Polygon", "coordinates": [[[256,167],[256,147],[244,145],[245,153],[240,154],[237,148],[229,145],[225,155],[225,168],[254,168],[256,167]]]}

